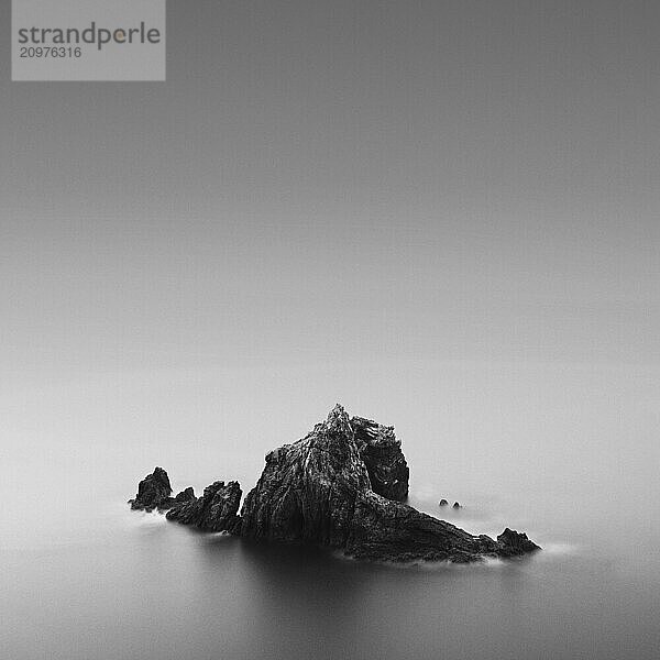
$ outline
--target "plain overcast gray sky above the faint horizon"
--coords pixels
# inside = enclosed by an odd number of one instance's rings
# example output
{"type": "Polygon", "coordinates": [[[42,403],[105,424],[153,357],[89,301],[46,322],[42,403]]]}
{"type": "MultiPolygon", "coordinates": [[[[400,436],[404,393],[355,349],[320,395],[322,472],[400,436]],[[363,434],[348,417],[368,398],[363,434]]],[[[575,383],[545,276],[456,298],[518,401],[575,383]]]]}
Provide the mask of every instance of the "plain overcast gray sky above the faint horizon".
{"type": "Polygon", "coordinates": [[[11,82],[15,370],[660,360],[658,2],[168,3],[166,82],[11,82]]]}

